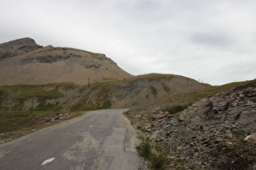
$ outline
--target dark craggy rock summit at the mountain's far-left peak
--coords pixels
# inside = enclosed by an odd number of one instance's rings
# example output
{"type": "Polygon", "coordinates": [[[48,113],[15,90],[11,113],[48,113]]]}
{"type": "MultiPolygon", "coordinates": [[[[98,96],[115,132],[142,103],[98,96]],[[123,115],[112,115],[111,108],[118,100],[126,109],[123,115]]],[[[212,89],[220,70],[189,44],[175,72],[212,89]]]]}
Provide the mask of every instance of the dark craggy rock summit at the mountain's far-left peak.
{"type": "Polygon", "coordinates": [[[0,61],[4,58],[15,57],[38,48],[41,48],[41,46],[37,45],[36,41],[31,38],[23,38],[3,43],[0,45],[0,61]]]}

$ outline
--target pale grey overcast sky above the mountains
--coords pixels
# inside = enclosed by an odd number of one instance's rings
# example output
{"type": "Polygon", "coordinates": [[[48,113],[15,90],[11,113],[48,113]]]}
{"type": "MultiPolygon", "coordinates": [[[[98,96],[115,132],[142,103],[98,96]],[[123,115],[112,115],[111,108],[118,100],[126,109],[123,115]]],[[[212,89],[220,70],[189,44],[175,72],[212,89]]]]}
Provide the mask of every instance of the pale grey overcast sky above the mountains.
{"type": "Polygon", "coordinates": [[[0,43],[105,53],[130,74],[256,78],[255,0],[0,0],[0,43]]]}

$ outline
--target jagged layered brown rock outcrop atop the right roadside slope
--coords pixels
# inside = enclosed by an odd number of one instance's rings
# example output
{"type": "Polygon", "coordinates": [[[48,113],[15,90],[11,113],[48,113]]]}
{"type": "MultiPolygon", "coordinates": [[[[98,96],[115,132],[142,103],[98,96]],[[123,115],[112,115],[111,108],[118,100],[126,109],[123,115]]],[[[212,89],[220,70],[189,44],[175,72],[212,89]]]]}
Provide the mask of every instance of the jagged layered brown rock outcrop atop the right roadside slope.
{"type": "Polygon", "coordinates": [[[193,104],[180,113],[179,121],[192,130],[206,130],[219,134],[225,127],[256,132],[256,88],[236,88],[193,104]],[[198,122],[201,122],[198,125],[198,122]]]}

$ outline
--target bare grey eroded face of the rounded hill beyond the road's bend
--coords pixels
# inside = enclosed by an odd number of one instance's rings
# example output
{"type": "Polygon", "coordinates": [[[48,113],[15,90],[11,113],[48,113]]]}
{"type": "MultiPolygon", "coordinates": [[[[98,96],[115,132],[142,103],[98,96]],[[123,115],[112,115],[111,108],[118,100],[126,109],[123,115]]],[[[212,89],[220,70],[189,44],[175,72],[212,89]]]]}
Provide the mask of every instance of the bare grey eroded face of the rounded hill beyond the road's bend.
{"type": "MultiPolygon", "coordinates": [[[[188,93],[206,90],[207,87],[196,80],[179,75],[169,74],[163,79],[147,79],[147,76],[159,76],[158,74],[146,74],[144,78],[137,79],[111,88],[111,100],[113,106],[132,106],[146,104],[152,100],[175,96],[180,93],[188,93]],[[189,82],[189,83],[188,83],[189,82]],[[125,104],[126,103],[126,104],[125,104]]],[[[140,77],[140,76],[137,76],[140,77]]]]}

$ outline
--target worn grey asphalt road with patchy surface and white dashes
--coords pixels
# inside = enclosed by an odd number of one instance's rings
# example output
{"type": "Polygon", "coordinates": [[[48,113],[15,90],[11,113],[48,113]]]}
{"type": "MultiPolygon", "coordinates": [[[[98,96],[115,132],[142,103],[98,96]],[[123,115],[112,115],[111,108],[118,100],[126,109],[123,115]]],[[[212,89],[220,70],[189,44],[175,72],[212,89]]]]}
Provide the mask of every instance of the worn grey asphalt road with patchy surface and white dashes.
{"type": "Polygon", "coordinates": [[[0,145],[0,169],[138,169],[127,109],[98,110],[0,145]]]}

